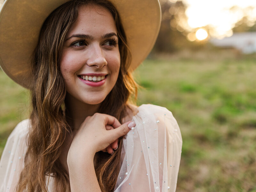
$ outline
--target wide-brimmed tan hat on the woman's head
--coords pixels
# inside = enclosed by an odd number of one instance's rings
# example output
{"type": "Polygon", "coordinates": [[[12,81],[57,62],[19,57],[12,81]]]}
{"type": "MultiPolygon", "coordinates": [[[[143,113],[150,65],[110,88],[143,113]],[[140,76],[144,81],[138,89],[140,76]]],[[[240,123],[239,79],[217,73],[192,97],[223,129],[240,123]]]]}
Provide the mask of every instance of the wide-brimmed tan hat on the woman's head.
{"type": "MultiPolygon", "coordinates": [[[[131,71],[153,48],[161,23],[158,0],[109,0],[116,7],[132,52],[131,71]]],[[[29,88],[31,58],[48,15],[68,0],[6,0],[0,12],[0,66],[29,88]]]]}

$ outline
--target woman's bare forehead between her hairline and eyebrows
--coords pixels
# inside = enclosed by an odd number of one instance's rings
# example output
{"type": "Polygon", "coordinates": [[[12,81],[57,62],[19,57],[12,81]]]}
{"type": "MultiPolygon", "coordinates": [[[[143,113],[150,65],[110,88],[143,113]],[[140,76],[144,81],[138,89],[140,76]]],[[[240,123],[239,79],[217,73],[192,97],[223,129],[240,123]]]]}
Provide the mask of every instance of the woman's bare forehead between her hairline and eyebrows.
{"type": "Polygon", "coordinates": [[[99,5],[81,5],[78,8],[78,17],[67,35],[85,33],[94,36],[111,32],[116,32],[116,24],[106,8],[99,5]]]}

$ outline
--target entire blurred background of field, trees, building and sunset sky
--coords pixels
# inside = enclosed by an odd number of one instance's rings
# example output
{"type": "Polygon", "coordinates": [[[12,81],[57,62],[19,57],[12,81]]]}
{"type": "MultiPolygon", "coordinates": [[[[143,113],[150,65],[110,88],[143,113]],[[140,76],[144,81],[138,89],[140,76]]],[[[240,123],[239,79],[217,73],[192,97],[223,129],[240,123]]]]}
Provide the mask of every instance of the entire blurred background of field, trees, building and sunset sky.
{"type": "MultiPolygon", "coordinates": [[[[137,104],[164,106],[180,125],[177,192],[255,192],[256,1],[160,3],[159,37],[134,77],[137,104]]],[[[1,155],[29,92],[3,71],[0,90],[1,155]]]]}

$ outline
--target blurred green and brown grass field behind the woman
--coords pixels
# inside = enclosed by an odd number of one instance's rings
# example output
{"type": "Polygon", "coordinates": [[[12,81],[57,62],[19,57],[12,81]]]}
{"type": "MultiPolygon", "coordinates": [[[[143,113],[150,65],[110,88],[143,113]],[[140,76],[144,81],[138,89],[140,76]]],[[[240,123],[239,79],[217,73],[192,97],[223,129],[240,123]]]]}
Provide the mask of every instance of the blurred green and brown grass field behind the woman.
{"type": "MultiPolygon", "coordinates": [[[[256,192],[256,60],[146,60],[138,105],[164,106],[183,138],[177,192],[256,192]]],[[[0,154],[27,118],[28,91],[0,72],[0,154]]]]}

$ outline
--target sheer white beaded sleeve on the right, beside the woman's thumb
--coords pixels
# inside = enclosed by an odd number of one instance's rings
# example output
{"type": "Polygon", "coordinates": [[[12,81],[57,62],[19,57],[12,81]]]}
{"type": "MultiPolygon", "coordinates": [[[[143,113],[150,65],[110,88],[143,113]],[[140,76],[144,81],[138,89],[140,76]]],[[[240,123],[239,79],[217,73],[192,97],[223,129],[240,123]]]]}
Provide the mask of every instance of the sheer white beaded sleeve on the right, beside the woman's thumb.
{"type": "Polygon", "coordinates": [[[179,126],[166,108],[148,104],[138,110],[136,127],[124,139],[115,192],[174,192],[182,147],[179,126]]]}

